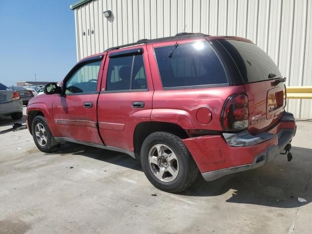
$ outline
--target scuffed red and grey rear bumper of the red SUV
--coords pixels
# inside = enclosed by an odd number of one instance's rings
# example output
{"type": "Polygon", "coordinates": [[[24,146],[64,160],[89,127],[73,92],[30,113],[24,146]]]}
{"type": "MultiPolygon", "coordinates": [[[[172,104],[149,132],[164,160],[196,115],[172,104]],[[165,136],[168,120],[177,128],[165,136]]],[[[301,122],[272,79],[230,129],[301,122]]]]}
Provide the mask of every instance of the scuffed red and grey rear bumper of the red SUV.
{"type": "Polygon", "coordinates": [[[285,112],[270,131],[253,136],[248,131],[222,136],[184,139],[205,180],[263,166],[279,155],[295,135],[292,114],[285,112]]]}

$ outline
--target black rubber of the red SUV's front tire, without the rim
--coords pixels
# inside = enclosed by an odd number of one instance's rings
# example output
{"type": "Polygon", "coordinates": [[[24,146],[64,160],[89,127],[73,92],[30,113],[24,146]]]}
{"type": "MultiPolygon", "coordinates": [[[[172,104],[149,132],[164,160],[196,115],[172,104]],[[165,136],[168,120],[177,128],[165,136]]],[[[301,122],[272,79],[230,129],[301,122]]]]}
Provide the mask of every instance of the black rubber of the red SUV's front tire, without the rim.
{"type": "Polygon", "coordinates": [[[33,119],[33,122],[32,122],[32,125],[31,125],[31,129],[32,129],[32,135],[33,135],[33,138],[34,138],[34,141],[35,141],[35,144],[36,146],[38,147],[38,149],[42,152],[45,152],[45,153],[51,153],[52,151],[56,150],[59,148],[59,143],[54,139],[54,137],[52,136],[51,134],[51,131],[48,127],[48,124],[47,124],[47,121],[45,119],[45,117],[42,117],[42,116],[36,116],[34,119],[33,119]],[[36,136],[36,125],[37,124],[42,124],[44,129],[45,129],[45,138],[46,138],[46,141],[45,141],[45,145],[40,145],[40,142],[39,142],[39,139],[38,137],[36,136]]]}

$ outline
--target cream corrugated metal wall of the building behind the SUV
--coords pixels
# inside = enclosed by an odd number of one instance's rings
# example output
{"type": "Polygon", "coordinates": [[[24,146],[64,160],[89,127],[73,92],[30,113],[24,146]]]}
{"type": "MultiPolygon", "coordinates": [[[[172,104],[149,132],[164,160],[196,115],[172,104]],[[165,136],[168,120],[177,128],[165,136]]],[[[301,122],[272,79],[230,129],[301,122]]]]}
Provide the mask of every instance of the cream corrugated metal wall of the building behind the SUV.
{"type": "MultiPolygon", "coordinates": [[[[78,60],[138,39],[186,32],[254,41],[287,85],[312,85],[312,0],[93,0],[75,9],[78,60]],[[103,11],[111,10],[107,19],[103,11]],[[83,35],[85,33],[85,35],[83,35]]],[[[312,100],[288,100],[297,118],[312,118],[312,100]]]]}

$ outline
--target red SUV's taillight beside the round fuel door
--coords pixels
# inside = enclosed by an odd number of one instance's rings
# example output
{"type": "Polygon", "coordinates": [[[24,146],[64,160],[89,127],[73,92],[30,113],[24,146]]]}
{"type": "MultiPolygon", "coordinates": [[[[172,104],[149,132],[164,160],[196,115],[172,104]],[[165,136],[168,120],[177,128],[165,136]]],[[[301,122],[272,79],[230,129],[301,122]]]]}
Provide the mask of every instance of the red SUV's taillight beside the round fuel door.
{"type": "Polygon", "coordinates": [[[227,98],[221,123],[224,130],[239,131],[248,128],[249,106],[246,94],[234,94],[227,98]]]}

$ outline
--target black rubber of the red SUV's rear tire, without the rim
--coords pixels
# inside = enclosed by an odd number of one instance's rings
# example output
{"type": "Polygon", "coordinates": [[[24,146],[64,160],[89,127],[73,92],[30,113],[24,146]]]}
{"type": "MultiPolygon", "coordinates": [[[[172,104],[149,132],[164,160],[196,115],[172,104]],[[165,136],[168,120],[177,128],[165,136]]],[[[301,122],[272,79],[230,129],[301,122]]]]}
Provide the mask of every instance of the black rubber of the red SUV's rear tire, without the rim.
{"type": "Polygon", "coordinates": [[[155,132],[146,137],[142,144],[140,160],[148,180],[160,190],[178,193],[188,188],[198,176],[195,161],[183,144],[181,138],[166,132],[155,132]],[[178,161],[178,173],[173,181],[165,182],[157,178],[149,164],[149,153],[157,144],[164,144],[172,149],[178,161]]]}

